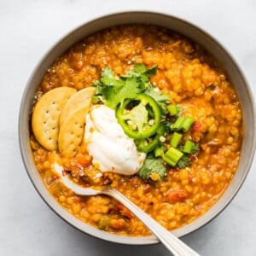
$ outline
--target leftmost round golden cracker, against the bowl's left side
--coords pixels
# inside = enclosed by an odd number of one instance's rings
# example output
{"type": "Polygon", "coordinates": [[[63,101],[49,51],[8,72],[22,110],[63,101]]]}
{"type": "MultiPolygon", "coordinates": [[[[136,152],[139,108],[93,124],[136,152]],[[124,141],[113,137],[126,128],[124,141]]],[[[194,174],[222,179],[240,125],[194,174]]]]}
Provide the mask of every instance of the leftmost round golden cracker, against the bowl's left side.
{"type": "Polygon", "coordinates": [[[37,102],[32,113],[32,131],[44,148],[57,149],[61,110],[77,90],[58,87],[49,90],[37,102]]]}

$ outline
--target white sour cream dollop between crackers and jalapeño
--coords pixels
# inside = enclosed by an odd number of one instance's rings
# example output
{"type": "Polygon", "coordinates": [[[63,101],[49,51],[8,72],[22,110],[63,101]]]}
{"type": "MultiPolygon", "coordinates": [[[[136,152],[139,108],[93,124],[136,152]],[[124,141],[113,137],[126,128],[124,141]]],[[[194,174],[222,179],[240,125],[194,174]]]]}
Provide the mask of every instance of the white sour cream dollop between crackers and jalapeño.
{"type": "Polygon", "coordinates": [[[92,156],[92,163],[101,172],[123,175],[136,173],[146,158],[138,152],[115,117],[113,109],[94,105],[85,117],[84,141],[92,156]]]}

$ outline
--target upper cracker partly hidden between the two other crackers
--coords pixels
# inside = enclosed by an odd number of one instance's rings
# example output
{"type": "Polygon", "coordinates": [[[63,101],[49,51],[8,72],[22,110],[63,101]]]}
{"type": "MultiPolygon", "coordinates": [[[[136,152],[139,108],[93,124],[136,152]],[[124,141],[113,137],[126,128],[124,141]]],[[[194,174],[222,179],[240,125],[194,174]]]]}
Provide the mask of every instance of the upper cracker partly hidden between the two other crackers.
{"type": "Polygon", "coordinates": [[[87,87],[79,90],[65,104],[61,111],[60,125],[67,119],[69,114],[72,114],[78,108],[83,108],[91,102],[91,97],[95,95],[95,87],[87,87]]]}

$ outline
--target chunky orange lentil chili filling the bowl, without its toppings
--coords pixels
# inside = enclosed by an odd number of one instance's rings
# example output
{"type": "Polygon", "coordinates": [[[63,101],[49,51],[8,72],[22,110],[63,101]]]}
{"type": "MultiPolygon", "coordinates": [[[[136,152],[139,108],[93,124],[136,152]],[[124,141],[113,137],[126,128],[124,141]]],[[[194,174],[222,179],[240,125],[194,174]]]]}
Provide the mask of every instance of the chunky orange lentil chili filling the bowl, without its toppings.
{"type": "Polygon", "coordinates": [[[83,143],[71,159],[45,150],[32,133],[31,146],[46,188],[68,212],[102,230],[148,236],[147,228],[119,202],[103,195],[74,195],[59,183],[51,168],[56,157],[74,182],[83,186],[111,183],[166,229],[173,230],[207,212],[231,183],[240,158],[242,116],[236,91],[211,55],[177,33],[144,25],[111,27],[73,45],[49,67],[38,85],[35,102],[59,86],[77,90],[91,86],[102,68],[111,67],[121,75],[135,63],[158,66],[151,83],[170,96],[172,104],[182,106],[184,115],[195,119],[184,138],[201,143],[191,166],[170,167],[164,179],[147,182],[136,175],[102,175],[91,165],[83,143]]]}

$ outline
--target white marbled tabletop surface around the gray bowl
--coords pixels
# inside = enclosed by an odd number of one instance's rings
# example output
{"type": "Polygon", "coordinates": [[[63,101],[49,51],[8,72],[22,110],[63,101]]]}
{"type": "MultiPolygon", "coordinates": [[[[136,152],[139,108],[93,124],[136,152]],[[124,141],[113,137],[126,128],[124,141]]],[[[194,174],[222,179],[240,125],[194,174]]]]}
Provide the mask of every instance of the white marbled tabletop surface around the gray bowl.
{"type": "MultiPolygon", "coordinates": [[[[125,246],[73,229],[41,200],[20,158],[18,112],[37,61],[86,20],[127,9],[165,11],[212,33],[236,56],[256,96],[256,2],[253,0],[0,0],[0,255],[169,255],[161,245],[125,246]]],[[[256,255],[256,160],[235,200],[211,224],[183,238],[201,255],[256,255]]]]}

